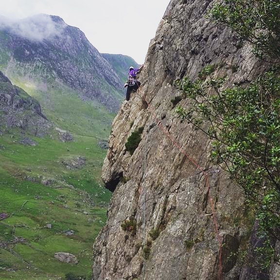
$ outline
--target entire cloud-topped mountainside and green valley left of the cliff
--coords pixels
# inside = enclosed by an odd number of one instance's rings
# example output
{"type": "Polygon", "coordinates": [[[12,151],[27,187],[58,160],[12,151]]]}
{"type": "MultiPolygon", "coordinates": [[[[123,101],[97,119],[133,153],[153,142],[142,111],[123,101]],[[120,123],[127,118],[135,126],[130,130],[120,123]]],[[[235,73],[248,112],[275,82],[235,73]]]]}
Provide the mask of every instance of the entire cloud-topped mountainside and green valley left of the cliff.
{"type": "Polygon", "coordinates": [[[79,29],[46,15],[0,18],[0,70],[0,279],[91,279],[123,82],[79,29]]]}

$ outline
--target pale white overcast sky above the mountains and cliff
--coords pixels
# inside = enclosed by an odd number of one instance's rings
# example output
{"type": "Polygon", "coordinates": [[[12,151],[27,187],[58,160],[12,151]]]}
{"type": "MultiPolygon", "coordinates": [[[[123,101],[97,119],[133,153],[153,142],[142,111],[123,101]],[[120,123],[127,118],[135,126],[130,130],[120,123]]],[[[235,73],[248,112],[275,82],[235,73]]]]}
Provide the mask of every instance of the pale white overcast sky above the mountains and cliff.
{"type": "Polygon", "coordinates": [[[142,64],[170,0],[8,0],[0,15],[59,16],[82,30],[100,53],[129,55],[142,64]]]}

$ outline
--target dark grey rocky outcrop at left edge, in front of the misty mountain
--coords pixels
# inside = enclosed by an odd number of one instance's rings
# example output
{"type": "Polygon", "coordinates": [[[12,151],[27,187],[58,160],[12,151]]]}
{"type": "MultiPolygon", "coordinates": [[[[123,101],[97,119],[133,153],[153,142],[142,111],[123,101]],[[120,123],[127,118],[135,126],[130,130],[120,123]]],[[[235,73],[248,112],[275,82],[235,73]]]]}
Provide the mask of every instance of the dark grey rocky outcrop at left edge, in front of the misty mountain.
{"type": "Polygon", "coordinates": [[[23,89],[13,86],[0,72],[0,125],[19,127],[35,136],[43,136],[52,127],[39,103],[23,89]]]}

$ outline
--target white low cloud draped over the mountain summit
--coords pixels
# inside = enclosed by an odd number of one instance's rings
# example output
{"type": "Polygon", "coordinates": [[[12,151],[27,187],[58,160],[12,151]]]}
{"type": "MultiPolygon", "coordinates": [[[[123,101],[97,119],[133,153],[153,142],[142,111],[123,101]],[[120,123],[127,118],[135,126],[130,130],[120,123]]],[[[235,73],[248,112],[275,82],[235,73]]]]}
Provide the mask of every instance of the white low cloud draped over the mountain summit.
{"type": "Polygon", "coordinates": [[[13,34],[32,41],[43,41],[60,36],[66,26],[62,19],[44,14],[20,20],[0,17],[0,29],[9,30],[13,34]]]}

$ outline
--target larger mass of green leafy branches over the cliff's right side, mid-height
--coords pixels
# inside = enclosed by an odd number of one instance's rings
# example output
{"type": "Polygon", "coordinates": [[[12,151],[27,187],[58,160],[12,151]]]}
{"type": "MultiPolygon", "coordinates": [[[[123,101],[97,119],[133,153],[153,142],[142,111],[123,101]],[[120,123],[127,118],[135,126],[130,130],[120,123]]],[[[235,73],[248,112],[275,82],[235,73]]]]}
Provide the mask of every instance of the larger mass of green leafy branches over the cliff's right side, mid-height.
{"type": "MultiPolygon", "coordinates": [[[[212,159],[245,191],[247,204],[272,235],[280,226],[280,69],[266,72],[247,88],[221,90],[225,78],[177,84],[190,107],[175,112],[213,140],[212,159]],[[208,123],[208,129],[204,127],[208,123]]],[[[280,236],[278,236],[280,238],[280,236]]]]}

